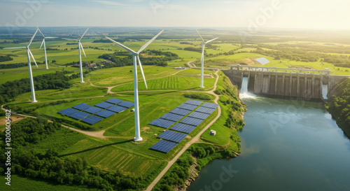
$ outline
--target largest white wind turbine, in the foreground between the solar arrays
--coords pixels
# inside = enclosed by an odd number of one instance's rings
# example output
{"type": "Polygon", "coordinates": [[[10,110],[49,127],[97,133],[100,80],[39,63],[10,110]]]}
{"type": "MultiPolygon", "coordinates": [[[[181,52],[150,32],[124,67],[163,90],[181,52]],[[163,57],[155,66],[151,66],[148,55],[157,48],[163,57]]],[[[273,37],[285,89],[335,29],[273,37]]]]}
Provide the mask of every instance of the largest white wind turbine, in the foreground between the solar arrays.
{"type": "Polygon", "coordinates": [[[140,119],[139,119],[139,90],[137,87],[137,62],[139,62],[139,66],[140,66],[140,71],[142,74],[142,78],[144,78],[144,82],[146,85],[146,89],[148,89],[147,87],[147,83],[146,83],[146,78],[144,75],[144,70],[142,69],[142,65],[141,65],[141,61],[139,58],[139,54],[140,52],[142,52],[142,50],[144,50],[149,44],[152,43],[152,41],[155,40],[155,38],[157,38],[164,30],[160,31],[160,33],[158,33],[155,37],[153,37],[150,41],[148,41],[148,43],[146,43],[145,45],[143,45],[139,51],[135,52],[134,50],[131,50],[130,48],[127,48],[125,45],[118,43],[117,41],[114,41],[113,39],[109,38],[106,36],[106,38],[108,38],[110,41],[112,41],[113,43],[116,43],[117,45],[120,46],[120,48],[123,48],[124,50],[127,50],[127,52],[130,52],[130,54],[133,56],[133,60],[134,60],[134,102],[135,102],[135,137],[134,137],[134,141],[135,142],[139,142],[142,141],[142,137],[140,136],[140,119]]]}

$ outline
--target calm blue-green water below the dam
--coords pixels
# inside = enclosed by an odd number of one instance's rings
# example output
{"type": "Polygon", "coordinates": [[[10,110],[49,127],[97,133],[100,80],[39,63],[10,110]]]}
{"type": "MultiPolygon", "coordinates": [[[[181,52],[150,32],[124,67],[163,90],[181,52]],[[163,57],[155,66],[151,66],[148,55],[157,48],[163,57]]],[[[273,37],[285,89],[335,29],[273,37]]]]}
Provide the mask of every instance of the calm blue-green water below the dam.
{"type": "Polygon", "coordinates": [[[209,163],[188,191],[350,190],[350,141],[323,103],[241,99],[241,156],[209,163]]]}

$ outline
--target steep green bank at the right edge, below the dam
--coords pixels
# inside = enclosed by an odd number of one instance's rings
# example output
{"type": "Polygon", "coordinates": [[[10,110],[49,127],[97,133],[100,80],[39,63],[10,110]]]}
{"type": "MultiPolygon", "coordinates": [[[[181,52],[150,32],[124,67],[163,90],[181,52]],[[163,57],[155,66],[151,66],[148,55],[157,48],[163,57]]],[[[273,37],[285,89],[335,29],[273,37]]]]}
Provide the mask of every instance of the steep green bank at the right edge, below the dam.
{"type": "Polygon", "coordinates": [[[337,120],[337,125],[350,138],[350,78],[339,84],[326,108],[337,120]]]}

